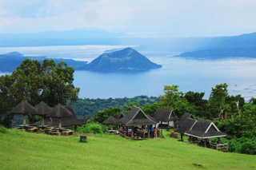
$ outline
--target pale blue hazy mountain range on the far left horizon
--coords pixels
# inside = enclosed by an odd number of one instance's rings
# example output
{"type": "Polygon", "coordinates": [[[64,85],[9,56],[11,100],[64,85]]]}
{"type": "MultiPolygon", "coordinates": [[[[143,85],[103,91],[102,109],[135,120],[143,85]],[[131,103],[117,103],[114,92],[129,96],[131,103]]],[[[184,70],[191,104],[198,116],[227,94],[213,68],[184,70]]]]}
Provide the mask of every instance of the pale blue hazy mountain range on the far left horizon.
{"type": "Polygon", "coordinates": [[[0,34],[0,46],[44,45],[112,45],[129,35],[99,28],[78,28],[65,31],[44,31],[31,34],[0,34]]]}

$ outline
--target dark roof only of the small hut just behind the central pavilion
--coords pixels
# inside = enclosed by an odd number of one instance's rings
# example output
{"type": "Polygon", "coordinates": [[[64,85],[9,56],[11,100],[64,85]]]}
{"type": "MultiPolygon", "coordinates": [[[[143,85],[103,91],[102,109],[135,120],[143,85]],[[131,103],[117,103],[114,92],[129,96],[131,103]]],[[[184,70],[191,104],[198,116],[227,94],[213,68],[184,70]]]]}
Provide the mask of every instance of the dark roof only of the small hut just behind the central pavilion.
{"type": "Polygon", "coordinates": [[[158,121],[178,121],[174,111],[171,109],[157,109],[154,113],[154,119],[158,121]]]}

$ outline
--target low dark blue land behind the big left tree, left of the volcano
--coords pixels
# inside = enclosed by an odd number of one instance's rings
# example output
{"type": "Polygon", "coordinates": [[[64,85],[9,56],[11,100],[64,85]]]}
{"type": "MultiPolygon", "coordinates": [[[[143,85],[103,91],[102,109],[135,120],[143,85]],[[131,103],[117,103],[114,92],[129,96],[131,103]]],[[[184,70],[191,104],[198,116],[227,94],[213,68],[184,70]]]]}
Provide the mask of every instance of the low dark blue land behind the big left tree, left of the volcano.
{"type": "MultiPolygon", "coordinates": [[[[18,65],[21,65],[22,61],[25,58],[30,58],[31,60],[38,60],[38,61],[42,62],[47,57],[24,56],[22,53],[18,53],[18,52],[0,54],[0,71],[1,72],[14,71],[14,69],[16,69],[18,65]]],[[[64,62],[66,62],[67,65],[74,67],[74,69],[81,68],[87,64],[87,61],[74,61],[72,59],[53,58],[53,60],[56,63],[58,63],[60,61],[64,61],[64,62]]]]}

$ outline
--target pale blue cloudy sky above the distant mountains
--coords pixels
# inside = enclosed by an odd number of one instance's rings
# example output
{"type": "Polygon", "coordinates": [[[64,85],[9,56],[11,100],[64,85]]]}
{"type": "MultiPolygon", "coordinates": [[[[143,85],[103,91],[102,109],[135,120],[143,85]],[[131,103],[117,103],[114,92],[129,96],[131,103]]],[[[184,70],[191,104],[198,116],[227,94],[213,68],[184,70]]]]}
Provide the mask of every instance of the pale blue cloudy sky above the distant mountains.
{"type": "Polygon", "coordinates": [[[255,0],[0,0],[0,34],[101,28],[134,37],[256,32],[255,0]]]}

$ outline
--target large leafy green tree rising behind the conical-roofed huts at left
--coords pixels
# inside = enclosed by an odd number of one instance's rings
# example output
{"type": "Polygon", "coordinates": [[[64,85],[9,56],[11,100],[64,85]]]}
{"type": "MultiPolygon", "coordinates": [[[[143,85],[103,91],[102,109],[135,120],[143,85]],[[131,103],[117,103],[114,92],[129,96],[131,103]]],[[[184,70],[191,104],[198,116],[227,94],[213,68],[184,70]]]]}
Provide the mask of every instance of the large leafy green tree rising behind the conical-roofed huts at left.
{"type": "Polygon", "coordinates": [[[74,68],[65,62],[56,65],[54,60],[45,59],[41,65],[26,58],[10,76],[1,77],[0,100],[6,101],[2,105],[8,106],[8,111],[22,100],[34,106],[41,101],[51,107],[66,105],[67,100],[78,100],[80,89],[74,87],[73,81],[74,68]]]}

